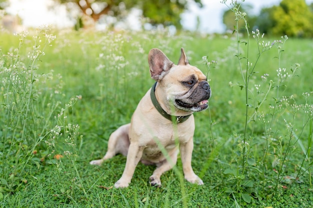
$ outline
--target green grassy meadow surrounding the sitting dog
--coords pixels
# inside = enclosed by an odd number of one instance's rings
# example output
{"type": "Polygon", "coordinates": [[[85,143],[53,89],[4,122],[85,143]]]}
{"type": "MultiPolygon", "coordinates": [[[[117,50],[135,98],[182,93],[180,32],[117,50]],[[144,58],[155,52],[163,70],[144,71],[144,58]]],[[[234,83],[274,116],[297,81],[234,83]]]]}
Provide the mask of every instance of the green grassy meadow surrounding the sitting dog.
{"type": "MultiPolygon", "coordinates": [[[[263,99],[269,80],[273,84],[255,120],[247,124],[246,146],[242,145],[245,90],[240,89],[244,83],[235,56],[235,36],[53,31],[56,39],[46,43],[45,32],[37,38],[31,33],[22,40],[0,34],[0,207],[232,208],[235,202],[257,208],[313,205],[312,116],[303,110],[312,110],[311,40],[288,39],[279,59],[277,48],[261,54],[257,73],[250,77],[248,102],[252,107],[248,116],[263,99]],[[34,42],[36,39],[42,41],[34,42]],[[110,133],[130,121],[140,98],[153,84],[147,63],[153,47],[174,62],[183,47],[190,63],[209,74],[212,97],[209,110],[195,114],[192,157],[193,169],[204,186],[181,179],[180,160],[180,173],[162,175],[159,189],[147,184],[154,167],[142,164],[137,166],[129,188],[112,188],[126,160],[120,155],[100,167],[88,164],[104,155],[110,133]],[[38,56],[29,58],[32,52],[38,56]],[[217,61],[209,72],[203,56],[217,61]],[[294,77],[286,79],[277,91],[276,70],[286,68],[290,74],[295,63],[300,67],[294,77]],[[260,77],[266,73],[269,76],[263,83],[260,77]],[[16,77],[21,82],[14,81],[16,77]],[[260,93],[254,84],[261,85],[260,93]],[[277,92],[278,99],[290,95],[294,99],[288,98],[288,105],[274,112],[269,106],[277,104],[273,99],[277,92]],[[302,96],[304,92],[309,93],[307,98],[302,96]],[[291,106],[295,103],[307,103],[308,107],[297,110],[291,106]],[[266,122],[273,119],[270,131],[268,124],[260,121],[262,113],[266,122]],[[283,119],[292,123],[295,136],[288,136],[290,128],[283,119]],[[57,154],[63,158],[56,160],[57,154]]],[[[245,39],[240,37],[241,42],[245,39]]],[[[274,39],[280,37],[264,41],[274,39]]],[[[250,37],[248,53],[246,45],[239,44],[240,55],[249,55],[253,64],[258,54],[254,42],[250,37]]],[[[245,60],[242,58],[242,63],[245,60]]]]}

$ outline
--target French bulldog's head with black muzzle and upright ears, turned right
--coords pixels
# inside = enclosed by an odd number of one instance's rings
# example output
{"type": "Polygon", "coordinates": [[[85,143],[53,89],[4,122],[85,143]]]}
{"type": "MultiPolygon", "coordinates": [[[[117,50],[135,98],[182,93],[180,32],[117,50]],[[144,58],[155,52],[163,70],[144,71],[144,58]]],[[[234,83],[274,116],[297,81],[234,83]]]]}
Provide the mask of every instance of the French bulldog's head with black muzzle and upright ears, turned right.
{"type": "Polygon", "coordinates": [[[207,108],[210,86],[206,76],[189,64],[183,48],[177,65],[157,48],[150,50],[148,62],[151,77],[159,83],[162,92],[159,102],[170,103],[183,111],[197,112],[207,108]]]}

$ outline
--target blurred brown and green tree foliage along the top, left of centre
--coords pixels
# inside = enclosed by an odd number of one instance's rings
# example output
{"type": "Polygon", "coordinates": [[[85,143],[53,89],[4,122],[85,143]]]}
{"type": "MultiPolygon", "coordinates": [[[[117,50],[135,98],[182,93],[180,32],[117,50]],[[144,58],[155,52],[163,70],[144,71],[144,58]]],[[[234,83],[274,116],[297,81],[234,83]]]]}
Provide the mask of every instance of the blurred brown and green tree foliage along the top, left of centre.
{"type": "MultiPolygon", "coordinates": [[[[123,17],[131,8],[139,8],[152,25],[175,25],[180,28],[180,13],[187,9],[188,0],[57,0],[76,5],[80,11],[98,21],[103,14],[123,17]]],[[[201,0],[192,0],[202,7],[201,0]]]]}

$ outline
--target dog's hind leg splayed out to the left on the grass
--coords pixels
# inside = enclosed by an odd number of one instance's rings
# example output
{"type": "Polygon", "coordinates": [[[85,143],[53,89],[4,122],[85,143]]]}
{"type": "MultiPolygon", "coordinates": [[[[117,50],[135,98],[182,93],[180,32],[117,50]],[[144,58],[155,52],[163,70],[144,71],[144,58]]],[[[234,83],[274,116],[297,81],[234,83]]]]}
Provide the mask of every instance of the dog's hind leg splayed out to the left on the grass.
{"type": "Polygon", "coordinates": [[[115,156],[116,154],[122,154],[127,156],[129,148],[129,132],[130,124],[125,124],[116,129],[109,137],[107,143],[107,152],[104,157],[100,160],[90,161],[91,165],[101,165],[103,161],[108,160],[115,156]]]}

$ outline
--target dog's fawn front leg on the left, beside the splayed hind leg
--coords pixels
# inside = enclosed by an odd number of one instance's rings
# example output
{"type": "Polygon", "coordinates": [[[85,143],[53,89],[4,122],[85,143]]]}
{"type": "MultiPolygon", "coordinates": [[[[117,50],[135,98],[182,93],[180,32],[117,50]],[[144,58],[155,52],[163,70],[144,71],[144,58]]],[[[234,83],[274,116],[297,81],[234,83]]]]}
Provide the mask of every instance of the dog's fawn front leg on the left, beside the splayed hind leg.
{"type": "Polygon", "coordinates": [[[114,184],[115,188],[125,188],[128,187],[132,175],[138,162],[141,159],[143,147],[138,147],[137,143],[130,143],[127,153],[126,165],[124,172],[120,179],[114,184]]]}

